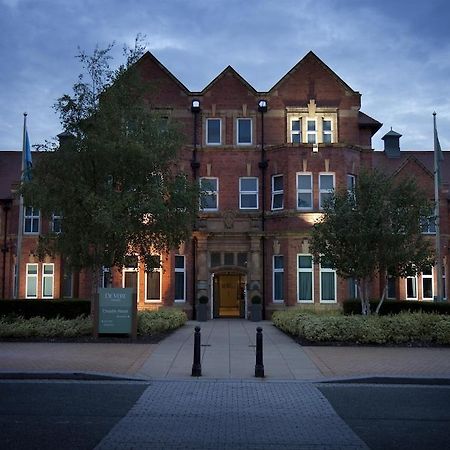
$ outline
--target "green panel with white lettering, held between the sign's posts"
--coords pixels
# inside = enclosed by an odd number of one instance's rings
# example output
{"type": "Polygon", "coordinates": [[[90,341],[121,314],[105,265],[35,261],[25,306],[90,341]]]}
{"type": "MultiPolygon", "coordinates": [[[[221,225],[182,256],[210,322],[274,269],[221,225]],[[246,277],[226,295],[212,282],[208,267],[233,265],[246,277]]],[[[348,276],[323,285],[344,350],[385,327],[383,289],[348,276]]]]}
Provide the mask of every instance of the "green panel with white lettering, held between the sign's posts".
{"type": "Polygon", "coordinates": [[[133,290],[101,288],[99,291],[98,332],[131,334],[133,290]]]}

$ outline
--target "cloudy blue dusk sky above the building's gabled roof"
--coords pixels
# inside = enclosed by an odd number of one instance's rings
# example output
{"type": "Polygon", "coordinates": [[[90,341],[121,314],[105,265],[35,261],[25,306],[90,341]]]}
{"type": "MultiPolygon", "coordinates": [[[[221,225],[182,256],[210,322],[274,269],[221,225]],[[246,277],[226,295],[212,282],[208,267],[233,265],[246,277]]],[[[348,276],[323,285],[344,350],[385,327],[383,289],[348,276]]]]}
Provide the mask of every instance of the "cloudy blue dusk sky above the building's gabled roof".
{"type": "Polygon", "coordinates": [[[432,148],[437,112],[450,148],[448,0],[0,0],[0,150],[61,132],[52,105],[70,93],[77,48],[124,43],[137,33],[190,90],[228,64],[255,89],[270,89],[314,51],[354,90],[361,110],[392,126],[404,150],[432,148]]]}

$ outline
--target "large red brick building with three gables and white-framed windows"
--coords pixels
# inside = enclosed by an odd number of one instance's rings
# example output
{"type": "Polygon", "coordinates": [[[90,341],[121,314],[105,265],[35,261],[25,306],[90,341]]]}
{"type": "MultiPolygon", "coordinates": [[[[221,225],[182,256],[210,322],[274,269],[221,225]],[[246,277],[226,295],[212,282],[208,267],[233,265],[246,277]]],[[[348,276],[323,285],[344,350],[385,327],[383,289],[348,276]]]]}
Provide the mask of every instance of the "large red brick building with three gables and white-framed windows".
{"type": "MultiPolygon", "coordinates": [[[[354,296],[354,285],[314,264],[309,249],[311,225],[330,191],[354,184],[362,167],[377,167],[394,177],[414,174],[433,198],[433,153],[400,151],[395,132],[384,137],[385,150],[375,152],[372,137],[381,123],[360,111],[361,94],[312,52],[268,92],[257,92],[231,67],[201,92],[189,91],[150,53],[138,67],[157,86],[153,105],[184,126],[179,168],[207,191],[192,239],[161,255],[160,271],[145,273],[138,261],[105,271],[105,284],[136,289],[139,308],[176,305],[192,316],[201,295],[210,298],[212,317],[247,317],[254,295],[263,298],[267,317],[285,306],[337,305],[354,296]]],[[[448,273],[448,157],[442,174],[448,273]]],[[[0,152],[3,298],[13,294],[18,226],[13,193],[19,175],[20,153],[0,152]]],[[[87,274],[64,271],[59,259],[38,261],[33,254],[39,232],[58,226],[58,218],[43,219],[28,208],[24,226],[19,297],[88,297],[87,274]]],[[[433,239],[433,229],[428,232],[433,239]]],[[[391,280],[389,296],[432,300],[434,272],[391,280]]],[[[448,292],[447,280],[445,285],[448,292]]],[[[372,295],[378,294],[373,283],[372,295]]]]}

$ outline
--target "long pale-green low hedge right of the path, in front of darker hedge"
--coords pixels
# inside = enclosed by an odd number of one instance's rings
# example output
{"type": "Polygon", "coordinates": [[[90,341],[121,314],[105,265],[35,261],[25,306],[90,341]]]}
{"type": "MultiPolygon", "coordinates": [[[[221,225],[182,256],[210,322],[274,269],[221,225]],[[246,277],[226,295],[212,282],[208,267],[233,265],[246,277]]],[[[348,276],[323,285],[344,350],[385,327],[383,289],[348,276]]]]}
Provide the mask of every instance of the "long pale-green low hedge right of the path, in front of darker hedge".
{"type": "Polygon", "coordinates": [[[275,312],[272,321],[282,331],[309,342],[450,344],[450,317],[440,314],[326,316],[294,308],[275,312]]]}

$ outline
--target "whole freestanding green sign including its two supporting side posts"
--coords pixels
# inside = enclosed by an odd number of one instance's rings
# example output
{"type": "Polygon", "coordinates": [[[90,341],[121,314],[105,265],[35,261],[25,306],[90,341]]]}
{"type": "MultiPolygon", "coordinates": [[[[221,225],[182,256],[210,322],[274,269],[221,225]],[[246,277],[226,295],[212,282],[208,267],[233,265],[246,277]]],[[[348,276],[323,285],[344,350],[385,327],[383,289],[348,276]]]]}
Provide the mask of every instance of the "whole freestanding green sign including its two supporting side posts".
{"type": "Polygon", "coordinates": [[[137,336],[136,295],[129,288],[100,288],[96,298],[94,335],[128,334],[137,336]]]}

